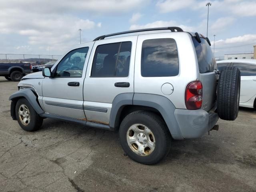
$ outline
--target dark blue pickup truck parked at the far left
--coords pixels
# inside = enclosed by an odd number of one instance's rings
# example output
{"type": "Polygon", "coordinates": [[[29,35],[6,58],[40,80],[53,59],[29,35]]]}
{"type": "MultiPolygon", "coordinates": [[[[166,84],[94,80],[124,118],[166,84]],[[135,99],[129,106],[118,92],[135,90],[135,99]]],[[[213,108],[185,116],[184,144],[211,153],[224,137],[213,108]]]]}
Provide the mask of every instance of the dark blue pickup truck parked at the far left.
{"type": "Polygon", "coordinates": [[[20,81],[24,75],[31,72],[31,69],[30,63],[0,63],[0,76],[7,80],[20,81]]]}

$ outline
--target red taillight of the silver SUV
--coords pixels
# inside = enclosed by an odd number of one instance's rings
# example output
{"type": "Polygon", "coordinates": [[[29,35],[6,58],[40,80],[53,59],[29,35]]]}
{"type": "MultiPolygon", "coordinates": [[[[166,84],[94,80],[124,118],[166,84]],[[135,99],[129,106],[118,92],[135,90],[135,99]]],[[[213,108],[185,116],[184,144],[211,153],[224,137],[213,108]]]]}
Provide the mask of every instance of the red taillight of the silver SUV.
{"type": "Polygon", "coordinates": [[[200,109],[203,102],[203,85],[200,81],[188,84],[185,92],[186,108],[190,110],[200,109]]]}

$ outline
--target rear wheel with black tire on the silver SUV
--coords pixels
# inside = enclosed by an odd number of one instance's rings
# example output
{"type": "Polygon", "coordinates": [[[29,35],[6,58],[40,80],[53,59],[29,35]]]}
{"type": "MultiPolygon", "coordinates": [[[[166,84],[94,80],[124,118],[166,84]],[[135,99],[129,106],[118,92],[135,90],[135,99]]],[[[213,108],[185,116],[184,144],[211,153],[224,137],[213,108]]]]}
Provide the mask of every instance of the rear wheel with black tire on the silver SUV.
{"type": "Polygon", "coordinates": [[[124,152],[142,164],[156,164],[170,150],[170,132],[164,120],[153,112],[128,114],[120,125],[119,138],[124,152]]]}

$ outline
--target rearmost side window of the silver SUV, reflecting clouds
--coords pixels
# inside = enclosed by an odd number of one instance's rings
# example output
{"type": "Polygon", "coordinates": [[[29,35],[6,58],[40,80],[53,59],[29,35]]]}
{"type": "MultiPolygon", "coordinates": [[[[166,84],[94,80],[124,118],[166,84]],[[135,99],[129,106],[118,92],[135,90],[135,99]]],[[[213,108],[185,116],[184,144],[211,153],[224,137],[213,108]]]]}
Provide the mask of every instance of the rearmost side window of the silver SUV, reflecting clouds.
{"type": "Polygon", "coordinates": [[[143,41],[141,53],[141,75],[143,77],[176,76],[178,73],[178,50],[174,39],[143,41]]]}

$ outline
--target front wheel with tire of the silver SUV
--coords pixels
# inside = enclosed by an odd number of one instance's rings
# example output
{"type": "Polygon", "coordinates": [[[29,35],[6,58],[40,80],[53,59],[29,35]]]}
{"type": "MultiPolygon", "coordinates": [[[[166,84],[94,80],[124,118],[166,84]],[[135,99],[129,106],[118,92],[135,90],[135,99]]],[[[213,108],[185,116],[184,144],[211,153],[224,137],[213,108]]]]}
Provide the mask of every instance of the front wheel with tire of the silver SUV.
{"type": "Polygon", "coordinates": [[[36,131],[43,123],[43,119],[25,98],[19,99],[16,108],[16,118],[20,127],[26,131],[36,131]]]}

